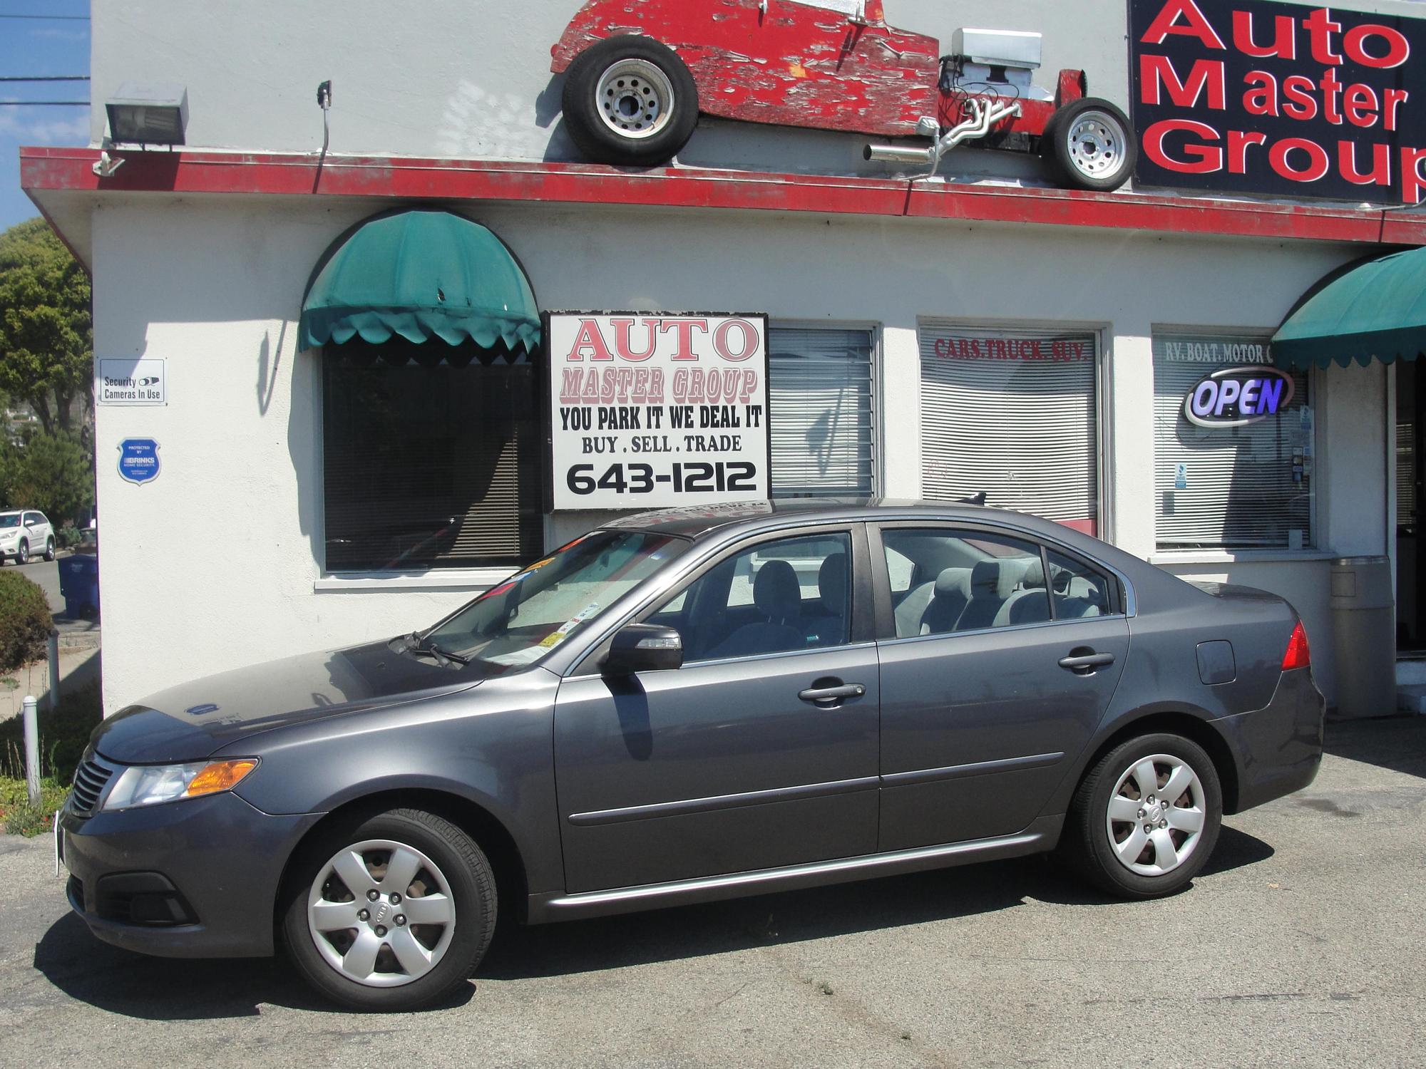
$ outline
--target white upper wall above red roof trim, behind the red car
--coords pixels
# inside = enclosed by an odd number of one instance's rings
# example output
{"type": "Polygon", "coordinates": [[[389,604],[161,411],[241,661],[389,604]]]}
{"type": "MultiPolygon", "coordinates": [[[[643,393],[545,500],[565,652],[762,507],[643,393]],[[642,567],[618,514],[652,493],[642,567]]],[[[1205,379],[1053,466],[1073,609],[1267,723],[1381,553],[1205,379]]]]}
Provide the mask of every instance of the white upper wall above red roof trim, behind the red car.
{"type": "MultiPolygon", "coordinates": [[[[315,153],[322,144],[317,84],[332,81],[331,151],[419,157],[572,160],[560,128],[563,76],[549,48],[580,0],[94,0],[91,100],[124,81],[188,87],[188,144],[315,153]]],[[[1318,6],[1318,4],[1315,4],[1318,6]]],[[[1335,7],[1420,16],[1407,0],[1335,7]]],[[[886,0],[891,26],[940,37],[957,27],[1044,36],[1038,84],[1061,67],[1088,74],[1089,91],[1128,105],[1124,3],[1064,0],[886,0]]],[[[1303,9],[1310,10],[1310,7],[1303,9]]],[[[91,118],[94,144],[104,111],[91,118]]],[[[702,121],[683,164],[774,171],[886,174],[861,161],[866,138],[719,120],[702,121]]],[[[958,150],[947,172],[1034,177],[1034,161],[958,150]]]]}

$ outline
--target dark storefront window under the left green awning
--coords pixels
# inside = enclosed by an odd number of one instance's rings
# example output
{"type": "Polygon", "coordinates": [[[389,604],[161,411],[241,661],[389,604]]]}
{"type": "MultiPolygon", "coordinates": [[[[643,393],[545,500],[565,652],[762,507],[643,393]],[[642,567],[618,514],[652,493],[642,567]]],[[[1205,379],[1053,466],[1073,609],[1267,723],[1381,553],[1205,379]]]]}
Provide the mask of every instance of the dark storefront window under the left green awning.
{"type": "Polygon", "coordinates": [[[532,368],[471,349],[328,345],[328,572],[509,567],[539,553],[532,368]]]}

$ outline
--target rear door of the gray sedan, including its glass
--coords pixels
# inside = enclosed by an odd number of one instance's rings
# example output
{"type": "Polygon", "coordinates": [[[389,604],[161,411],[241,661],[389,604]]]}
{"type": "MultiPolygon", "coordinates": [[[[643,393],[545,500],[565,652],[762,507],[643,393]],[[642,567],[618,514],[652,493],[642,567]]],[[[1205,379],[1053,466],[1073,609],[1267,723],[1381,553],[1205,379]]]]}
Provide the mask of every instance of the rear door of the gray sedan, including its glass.
{"type": "Polygon", "coordinates": [[[1129,647],[1118,582],[994,527],[883,525],[871,556],[880,849],[1024,830],[1118,686],[1129,647]]]}

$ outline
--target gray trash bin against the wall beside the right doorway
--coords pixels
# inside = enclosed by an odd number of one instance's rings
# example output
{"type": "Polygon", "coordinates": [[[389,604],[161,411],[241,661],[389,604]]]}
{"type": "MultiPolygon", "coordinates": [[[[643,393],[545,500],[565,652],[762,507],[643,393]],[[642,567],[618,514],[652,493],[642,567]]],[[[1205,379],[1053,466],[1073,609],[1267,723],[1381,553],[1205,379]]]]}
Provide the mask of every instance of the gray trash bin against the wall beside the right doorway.
{"type": "Polygon", "coordinates": [[[1332,562],[1332,639],[1338,716],[1385,717],[1396,711],[1396,592],[1386,557],[1332,562]]]}

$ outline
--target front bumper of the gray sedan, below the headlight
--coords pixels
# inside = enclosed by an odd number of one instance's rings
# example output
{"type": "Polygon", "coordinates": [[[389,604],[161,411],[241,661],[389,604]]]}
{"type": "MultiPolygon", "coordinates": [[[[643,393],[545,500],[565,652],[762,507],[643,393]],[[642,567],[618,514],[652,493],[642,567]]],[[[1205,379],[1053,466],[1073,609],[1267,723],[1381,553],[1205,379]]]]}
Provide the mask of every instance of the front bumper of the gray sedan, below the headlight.
{"type": "Polygon", "coordinates": [[[232,792],[60,814],[70,905],[104,942],[163,958],[274,951],[282,869],[321,814],[272,817],[232,792]]]}

